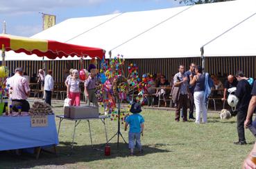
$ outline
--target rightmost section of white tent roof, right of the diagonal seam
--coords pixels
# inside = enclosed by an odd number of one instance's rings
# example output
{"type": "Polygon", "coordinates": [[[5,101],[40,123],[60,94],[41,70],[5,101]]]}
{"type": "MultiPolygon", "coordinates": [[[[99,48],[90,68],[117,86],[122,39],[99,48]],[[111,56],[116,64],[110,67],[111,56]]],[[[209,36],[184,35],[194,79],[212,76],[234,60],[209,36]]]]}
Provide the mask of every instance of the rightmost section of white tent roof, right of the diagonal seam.
{"type": "Polygon", "coordinates": [[[205,45],[204,50],[207,57],[256,56],[256,10],[240,26],[205,45]]]}

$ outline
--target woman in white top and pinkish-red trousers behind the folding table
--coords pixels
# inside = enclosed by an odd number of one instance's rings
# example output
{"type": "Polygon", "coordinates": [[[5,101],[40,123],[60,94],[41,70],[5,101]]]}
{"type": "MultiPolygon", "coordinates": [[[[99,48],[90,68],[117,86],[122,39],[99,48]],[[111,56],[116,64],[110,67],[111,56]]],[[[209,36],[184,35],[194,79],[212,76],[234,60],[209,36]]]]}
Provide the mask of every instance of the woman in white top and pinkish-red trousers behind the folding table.
{"type": "Polygon", "coordinates": [[[71,106],[80,106],[79,83],[80,79],[78,78],[78,70],[74,69],[67,86],[67,97],[71,99],[71,106]]]}

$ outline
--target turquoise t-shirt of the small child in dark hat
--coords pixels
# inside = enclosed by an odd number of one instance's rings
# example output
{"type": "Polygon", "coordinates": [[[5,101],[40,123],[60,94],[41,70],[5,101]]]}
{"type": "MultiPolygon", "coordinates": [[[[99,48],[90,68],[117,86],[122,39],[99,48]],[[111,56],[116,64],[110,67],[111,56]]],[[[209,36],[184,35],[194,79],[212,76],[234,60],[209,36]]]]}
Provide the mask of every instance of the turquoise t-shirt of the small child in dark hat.
{"type": "Polygon", "coordinates": [[[128,123],[130,126],[129,132],[141,132],[142,127],[140,125],[144,123],[144,118],[142,115],[133,114],[126,119],[126,123],[128,123]]]}

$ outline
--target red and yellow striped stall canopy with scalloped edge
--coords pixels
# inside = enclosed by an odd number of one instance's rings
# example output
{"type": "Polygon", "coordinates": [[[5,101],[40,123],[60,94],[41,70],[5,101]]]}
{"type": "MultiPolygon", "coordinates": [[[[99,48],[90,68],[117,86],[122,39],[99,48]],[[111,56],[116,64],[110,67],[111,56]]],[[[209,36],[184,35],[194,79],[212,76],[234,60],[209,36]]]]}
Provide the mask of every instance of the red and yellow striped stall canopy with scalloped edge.
{"type": "Polygon", "coordinates": [[[86,46],[77,46],[58,41],[31,39],[28,37],[16,37],[10,34],[0,34],[0,46],[6,51],[24,52],[26,54],[37,54],[38,57],[48,57],[56,59],[57,57],[98,57],[103,58],[105,50],[101,48],[91,48],[86,46]]]}

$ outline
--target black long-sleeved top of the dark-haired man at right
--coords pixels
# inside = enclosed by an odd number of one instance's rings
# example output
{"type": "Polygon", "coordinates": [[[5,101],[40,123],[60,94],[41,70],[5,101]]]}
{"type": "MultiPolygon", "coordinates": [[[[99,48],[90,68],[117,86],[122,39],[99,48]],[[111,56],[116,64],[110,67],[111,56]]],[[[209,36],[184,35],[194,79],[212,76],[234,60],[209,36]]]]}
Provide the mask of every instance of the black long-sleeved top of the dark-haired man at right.
{"type": "Polygon", "coordinates": [[[252,95],[250,95],[251,91],[250,84],[245,79],[237,83],[237,91],[234,93],[239,99],[237,110],[247,112],[250,98],[252,97],[252,95]]]}

